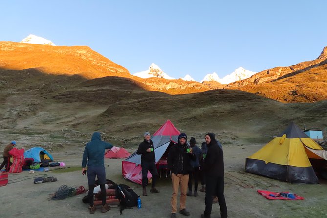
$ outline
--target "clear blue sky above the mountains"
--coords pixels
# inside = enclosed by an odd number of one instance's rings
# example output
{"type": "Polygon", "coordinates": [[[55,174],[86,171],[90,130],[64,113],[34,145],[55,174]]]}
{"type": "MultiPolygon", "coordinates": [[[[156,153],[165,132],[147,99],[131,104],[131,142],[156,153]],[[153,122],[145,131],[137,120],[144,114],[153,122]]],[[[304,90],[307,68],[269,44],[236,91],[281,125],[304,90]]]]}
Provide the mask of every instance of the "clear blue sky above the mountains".
{"type": "Polygon", "coordinates": [[[327,0],[1,0],[0,41],[86,45],[131,74],[220,78],[316,59],[327,0]]]}

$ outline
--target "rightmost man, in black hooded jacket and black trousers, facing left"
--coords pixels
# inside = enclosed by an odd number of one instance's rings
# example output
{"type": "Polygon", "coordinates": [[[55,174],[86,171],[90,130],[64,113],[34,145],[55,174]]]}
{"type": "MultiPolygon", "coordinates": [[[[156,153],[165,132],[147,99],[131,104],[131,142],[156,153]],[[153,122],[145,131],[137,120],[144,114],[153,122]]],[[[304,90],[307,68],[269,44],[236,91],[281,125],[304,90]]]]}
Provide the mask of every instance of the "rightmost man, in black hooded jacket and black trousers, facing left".
{"type": "Polygon", "coordinates": [[[206,179],[205,210],[201,218],[210,218],[212,210],[212,196],[218,197],[221,218],[227,218],[227,206],[224,196],[224,155],[215,139],[214,133],[204,137],[208,152],[204,162],[206,179]]]}

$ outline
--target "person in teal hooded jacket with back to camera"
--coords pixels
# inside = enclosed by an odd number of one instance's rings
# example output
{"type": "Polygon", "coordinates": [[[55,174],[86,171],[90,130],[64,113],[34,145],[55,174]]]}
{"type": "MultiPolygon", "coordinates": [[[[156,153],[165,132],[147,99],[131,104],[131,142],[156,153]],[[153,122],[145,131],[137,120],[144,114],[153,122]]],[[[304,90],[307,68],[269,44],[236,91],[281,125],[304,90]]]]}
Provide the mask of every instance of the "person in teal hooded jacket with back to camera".
{"type": "Polygon", "coordinates": [[[87,179],[88,179],[88,199],[89,211],[91,214],[95,212],[95,205],[93,201],[93,191],[95,184],[95,176],[98,178],[98,183],[101,189],[102,208],[101,212],[105,213],[110,210],[110,206],[106,204],[106,169],[105,169],[105,150],[111,149],[113,146],[101,140],[100,132],[94,132],[91,141],[87,143],[83,153],[82,159],[82,174],[86,174],[87,165],[87,179]]]}

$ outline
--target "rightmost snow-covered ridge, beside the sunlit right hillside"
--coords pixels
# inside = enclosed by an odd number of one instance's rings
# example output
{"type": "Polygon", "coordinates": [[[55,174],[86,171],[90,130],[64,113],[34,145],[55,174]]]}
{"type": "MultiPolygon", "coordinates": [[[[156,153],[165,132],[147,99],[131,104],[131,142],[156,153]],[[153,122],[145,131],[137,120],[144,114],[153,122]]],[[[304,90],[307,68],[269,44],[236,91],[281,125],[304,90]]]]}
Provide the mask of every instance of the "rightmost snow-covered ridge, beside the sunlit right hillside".
{"type": "Polygon", "coordinates": [[[252,72],[249,70],[244,69],[243,67],[237,68],[234,72],[232,72],[229,75],[226,75],[224,78],[220,79],[219,76],[214,72],[212,74],[207,74],[203,80],[201,80],[201,83],[203,81],[217,81],[221,84],[229,84],[233,83],[238,80],[244,80],[246,78],[251,77],[252,75],[256,74],[256,72],[252,72]]]}

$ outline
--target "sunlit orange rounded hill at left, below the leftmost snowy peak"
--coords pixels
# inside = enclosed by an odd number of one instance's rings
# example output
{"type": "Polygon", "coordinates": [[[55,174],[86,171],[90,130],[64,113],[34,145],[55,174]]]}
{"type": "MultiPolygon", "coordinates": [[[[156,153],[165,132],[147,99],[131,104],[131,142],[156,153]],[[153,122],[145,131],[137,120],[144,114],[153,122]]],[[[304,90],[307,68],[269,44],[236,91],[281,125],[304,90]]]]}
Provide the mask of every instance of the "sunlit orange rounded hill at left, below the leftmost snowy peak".
{"type": "Polygon", "coordinates": [[[85,78],[130,76],[127,69],[87,46],[68,47],[0,42],[0,60],[1,69],[38,68],[44,73],[78,74],[85,78]]]}

